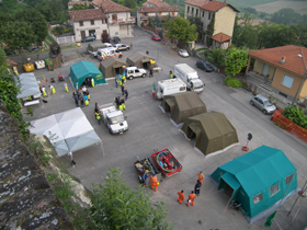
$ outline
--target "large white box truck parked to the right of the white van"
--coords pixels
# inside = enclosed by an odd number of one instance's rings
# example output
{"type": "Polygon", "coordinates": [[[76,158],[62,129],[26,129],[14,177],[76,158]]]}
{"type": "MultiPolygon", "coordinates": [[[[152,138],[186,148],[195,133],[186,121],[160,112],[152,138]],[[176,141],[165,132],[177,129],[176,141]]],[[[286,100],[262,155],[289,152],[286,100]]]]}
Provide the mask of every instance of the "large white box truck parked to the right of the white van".
{"type": "Polygon", "coordinates": [[[197,71],[186,64],[174,65],[173,76],[182,80],[189,90],[197,93],[203,92],[204,83],[200,79],[197,71]]]}

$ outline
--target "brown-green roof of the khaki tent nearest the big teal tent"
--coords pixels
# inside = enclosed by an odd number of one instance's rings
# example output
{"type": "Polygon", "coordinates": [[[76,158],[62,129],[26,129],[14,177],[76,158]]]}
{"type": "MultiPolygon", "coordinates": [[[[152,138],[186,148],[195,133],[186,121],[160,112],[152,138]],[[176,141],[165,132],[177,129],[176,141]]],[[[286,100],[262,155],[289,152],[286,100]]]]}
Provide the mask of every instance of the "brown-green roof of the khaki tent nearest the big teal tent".
{"type": "Polygon", "coordinates": [[[202,129],[206,131],[208,139],[214,139],[220,137],[221,134],[235,130],[235,127],[229,123],[223,113],[214,111],[189,117],[189,119],[198,122],[202,129]]]}

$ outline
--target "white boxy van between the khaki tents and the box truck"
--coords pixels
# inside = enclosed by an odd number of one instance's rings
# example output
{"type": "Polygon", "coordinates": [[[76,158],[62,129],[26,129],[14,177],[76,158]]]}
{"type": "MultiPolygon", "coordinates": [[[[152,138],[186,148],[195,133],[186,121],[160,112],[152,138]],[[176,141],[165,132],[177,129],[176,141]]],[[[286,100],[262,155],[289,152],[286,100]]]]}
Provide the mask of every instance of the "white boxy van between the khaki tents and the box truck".
{"type": "Polygon", "coordinates": [[[157,97],[163,99],[164,95],[186,92],[186,84],[175,78],[158,81],[157,97]]]}

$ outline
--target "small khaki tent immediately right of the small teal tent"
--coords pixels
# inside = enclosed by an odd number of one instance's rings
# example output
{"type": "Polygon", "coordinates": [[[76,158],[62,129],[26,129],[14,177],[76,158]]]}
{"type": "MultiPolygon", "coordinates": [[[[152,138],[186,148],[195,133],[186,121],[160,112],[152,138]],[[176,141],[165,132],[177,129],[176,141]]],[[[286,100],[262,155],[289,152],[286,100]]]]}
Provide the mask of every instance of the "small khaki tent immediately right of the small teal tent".
{"type": "Polygon", "coordinates": [[[115,77],[124,72],[127,64],[120,58],[110,57],[100,62],[99,70],[103,73],[104,78],[115,77]]]}

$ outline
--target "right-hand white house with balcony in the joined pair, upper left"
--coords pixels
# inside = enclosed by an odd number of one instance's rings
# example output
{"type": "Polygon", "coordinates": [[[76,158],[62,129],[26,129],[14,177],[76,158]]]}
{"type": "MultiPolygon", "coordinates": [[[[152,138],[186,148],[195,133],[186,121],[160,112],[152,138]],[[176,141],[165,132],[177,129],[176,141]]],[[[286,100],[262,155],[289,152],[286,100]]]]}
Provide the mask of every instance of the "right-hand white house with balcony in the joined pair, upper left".
{"type": "Polygon", "coordinates": [[[109,35],[111,37],[133,37],[135,18],[130,15],[132,9],[117,4],[111,0],[93,0],[95,8],[102,9],[106,16],[109,35]]]}

